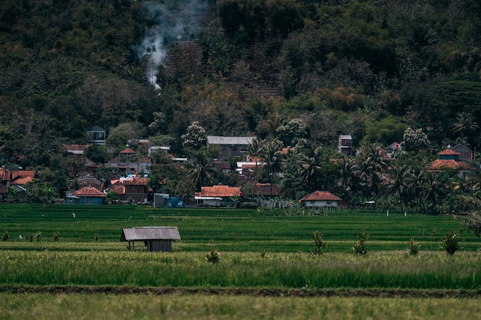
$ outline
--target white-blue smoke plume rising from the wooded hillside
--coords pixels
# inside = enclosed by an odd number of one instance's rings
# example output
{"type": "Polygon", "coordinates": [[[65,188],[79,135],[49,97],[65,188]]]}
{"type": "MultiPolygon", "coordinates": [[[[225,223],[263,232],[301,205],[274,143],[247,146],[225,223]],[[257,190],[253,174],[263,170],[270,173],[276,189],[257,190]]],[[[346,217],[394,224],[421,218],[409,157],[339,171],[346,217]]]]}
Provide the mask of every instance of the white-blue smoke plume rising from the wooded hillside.
{"type": "Polygon", "coordinates": [[[166,60],[168,45],[174,41],[191,40],[197,32],[195,16],[202,15],[207,5],[202,0],[177,1],[175,8],[161,4],[160,1],[144,1],[146,20],[154,24],[145,31],[140,45],[132,47],[138,59],[146,59],[147,81],[156,89],[158,67],[166,60]]]}

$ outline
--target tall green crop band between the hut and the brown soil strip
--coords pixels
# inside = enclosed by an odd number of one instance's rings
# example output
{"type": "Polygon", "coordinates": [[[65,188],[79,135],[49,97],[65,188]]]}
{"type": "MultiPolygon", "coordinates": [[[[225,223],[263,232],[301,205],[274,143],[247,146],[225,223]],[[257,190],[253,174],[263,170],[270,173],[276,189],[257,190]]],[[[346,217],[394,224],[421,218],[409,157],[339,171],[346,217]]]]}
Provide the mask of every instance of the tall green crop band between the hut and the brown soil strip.
{"type": "Polygon", "coordinates": [[[481,255],[3,251],[2,285],[215,288],[481,288],[481,255]]]}

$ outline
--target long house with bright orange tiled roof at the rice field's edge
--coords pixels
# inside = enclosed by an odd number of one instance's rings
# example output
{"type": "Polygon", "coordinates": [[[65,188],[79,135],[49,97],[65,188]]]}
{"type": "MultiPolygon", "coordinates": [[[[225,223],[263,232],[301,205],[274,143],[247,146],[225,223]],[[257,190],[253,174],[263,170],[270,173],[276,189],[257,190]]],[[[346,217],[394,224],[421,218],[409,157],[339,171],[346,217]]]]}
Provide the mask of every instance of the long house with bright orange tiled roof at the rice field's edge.
{"type": "Polygon", "coordinates": [[[235,206],[234,198],[241,197],[238,186],[202,186],[200,192],[195,193],[197,206],[235,206]]]}

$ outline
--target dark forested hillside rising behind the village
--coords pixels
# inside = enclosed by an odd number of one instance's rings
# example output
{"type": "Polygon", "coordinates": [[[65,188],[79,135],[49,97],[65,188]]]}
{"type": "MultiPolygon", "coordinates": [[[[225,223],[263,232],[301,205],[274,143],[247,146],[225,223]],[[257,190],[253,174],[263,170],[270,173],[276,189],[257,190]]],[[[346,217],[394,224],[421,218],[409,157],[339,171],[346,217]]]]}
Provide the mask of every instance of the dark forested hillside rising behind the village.
{"type": "Polygon", "coordinates": [[[477,0],[4,0],[0,21],[3,165],[54,167],[93,125],[178,155],[192,122],[287,146],[296,118],[323,146],[480,147],[477,0]]]}

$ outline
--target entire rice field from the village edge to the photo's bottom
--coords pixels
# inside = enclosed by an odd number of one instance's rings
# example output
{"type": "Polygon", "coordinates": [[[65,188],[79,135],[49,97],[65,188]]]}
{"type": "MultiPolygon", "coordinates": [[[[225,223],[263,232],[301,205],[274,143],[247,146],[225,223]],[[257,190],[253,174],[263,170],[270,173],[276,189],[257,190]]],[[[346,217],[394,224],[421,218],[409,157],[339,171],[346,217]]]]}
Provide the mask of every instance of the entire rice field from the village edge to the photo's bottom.
{"type": "Polygon", "coordinates": [[[286,217],[279,211],[2,204],[0,232],[8,230],[10,238],[0,242],[0,317],[473,318],[481,314],[473,298],[481,294],[481,239],[461,223],[449,215],[393,211],[286,217]],[[128,251],[120,242],[122,228],[151,225],[178,227],[182,239],[172,253],[146,252],[143,246],[128,251]],[[311,254],[315,230],[328,244],[320,256],[311,254]],[[369,234],[365,256],[352,253],[360,230],[369,234]],[[440,248],[448,230],[456,232],[463,247],[453,256],[440,248]],[[26,234],[39,231],[38,241],[25,241],[26,234]],[[411,238],[420,243],[418,256],[407,254],[411,238]],[[219,250],[219,263],[206,261],[211,247],[219,250]],[[12,293],[29,288],[33,292],[12,293]],[[48,293],[49,288],[59,292],[48,293]],[[91,288],[91,293],[75,288],[91,288]],[[120,288],[122,294],[109,288],[120,288]],[[132,295],[122,288],[204,291],[132,295]],[[251,290],[279,296],[250,296],[251,290]],[[314,296],[282,297],[282,290],[314,296]],[[347,297],[315,296],[319,290],[344,290],[347,297]],[[377,294],[357,296],[359,290],[377,294]],[[421,294],[411,297],[416,290],[421,294]]]}

